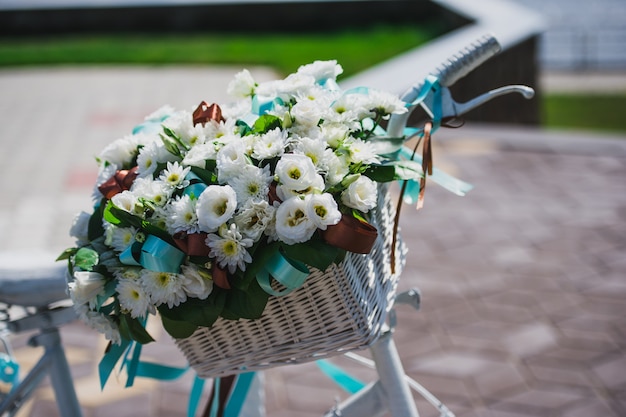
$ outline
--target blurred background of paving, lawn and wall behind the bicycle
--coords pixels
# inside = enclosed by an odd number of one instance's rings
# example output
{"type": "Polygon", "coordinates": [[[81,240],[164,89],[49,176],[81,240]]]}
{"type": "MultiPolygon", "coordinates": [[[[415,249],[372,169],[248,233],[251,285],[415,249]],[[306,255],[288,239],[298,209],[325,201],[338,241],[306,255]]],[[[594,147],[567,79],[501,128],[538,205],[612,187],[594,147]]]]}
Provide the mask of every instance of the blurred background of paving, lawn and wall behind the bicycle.
{"type": "MultiPolygon", "coordinates": [[[[401,356],[457,416],[626,415],[625,23],[623,0],[0,0],[0,250],[53,261],[91,209],[94,156],[161,105],[228,100],[244,67],[264,81],[337,59],[344,85],[401,93],[492,32],[502,52],[454,97],[537,94],[437,133],[435,165],[476,189],[429,186],[423,210],[403,209],[401,286],[424,304],[400,312],[401,356]]],[[[12,338],[23,370],[28,337],[12,338]]],[[[85,417],[186,415],[191,372],[101,392],[103,339],[80,323],[63,338],[85,417]]],[[[185,363],[165,337],[145,352],[185,363]]],[[[266,378],[272,417],[321,415],[345,396],[313,364],[266,378]]],[[[55,415],[49,386],[20,414],[55,415]]]]}

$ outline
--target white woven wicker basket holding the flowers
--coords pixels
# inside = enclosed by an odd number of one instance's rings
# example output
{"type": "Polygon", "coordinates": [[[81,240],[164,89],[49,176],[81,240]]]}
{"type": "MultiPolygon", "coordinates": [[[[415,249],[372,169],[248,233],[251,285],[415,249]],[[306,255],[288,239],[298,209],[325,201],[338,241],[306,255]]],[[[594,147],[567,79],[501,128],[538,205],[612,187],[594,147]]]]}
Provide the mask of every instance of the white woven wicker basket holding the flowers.
{"type": "Polygon", "coordinates": [[[395,208],[379,187],[371,224],[378,237],[368,255],[349,253],[325,272],[311,268],[305,284],[270,297],[258,320],[219,319],[176,344],[202,378],[307,362],[369,346],[391,308],[406,250],[398,239],[395,273],[391,246],[395,208]]]}

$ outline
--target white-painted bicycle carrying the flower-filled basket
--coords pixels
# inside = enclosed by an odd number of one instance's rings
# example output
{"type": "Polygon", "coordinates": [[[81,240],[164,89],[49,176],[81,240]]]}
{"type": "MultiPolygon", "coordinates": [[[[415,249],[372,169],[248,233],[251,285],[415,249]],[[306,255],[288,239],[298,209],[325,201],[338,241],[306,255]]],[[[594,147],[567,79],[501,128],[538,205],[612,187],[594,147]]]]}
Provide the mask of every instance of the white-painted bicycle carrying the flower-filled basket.
{"type": "MultiPolygon", "coordinates": [[[[409,103],[409,112],[394,115],[389,120],[387,132],[391,137],[418,139],[417,143],[418,145],[421,143],[423,149],[424,173],[432,175],[433,172],[429,144],[433,127],[436,129],[439,125],[446,125],[451,120],[504,94],[520,93],[525,98],[533,96],[534,92],[531,88],[512,85],[489,91],[466,103],[457,103],[453,100],[448,87],[495,55],[499,48],[494,37],[486,36],[453,55],[425,80],[415,84],[401,96],[402,100],[409,103]],[[429,120],[424,129],[408,129],[409,116],[417,108],[422,108],[429,120]]],[[[411,158],[415,156],[418,145],[411,158]]],[[[458,182],[448,184],[449,187],[454,188],[453,191],[463,193],[465,190],[462,186],[459,189],[459,185],[458,182]]],[[[424,186],[425,182],[422,182],[418,201],[423,198],[424,186]]],[[[52,380],[56,403],[61,415],[80,417],[82,412],[58,334],[60,326],[75,319],[72,308],[63,304],[67,297],[65,294],[66,268],[64,265],[32,266],[30,259],[29,263],[16,262],[15,265],[20,266],[0,266],[0,304],[6,305],[0,310],[1,321],[5,325],[4,332],[21,333],[36,330],[37,333],[31,337],[30,343],[32,346],[44,347],[44,353],[37,365],[22,380],[16,378],[17,366],[11,358],[10,349],[7,348],[7,353],[0,357],[0,363],[3,364],[0,376],[3,377],[4,382],[12,385],[11,390],[0,397],[0,414],[14,415],[41,382],[43,376],[48,374],[52,380]],[[29,266],[22,268],[21,265],[29,266]],[[22,311],[20,317],[14,317],[14,308],[22,311]]],[[[412,289],[398,294],[395,304],[408,304],[419,309],[419,291],[412,289]]],[[[378,339],[369,347],[373,360],[355,353],[345,354],[346,357],[360,364],[374,368],[378,379],[337,404],[325,417],[382,416],[386,412],[394,417],[417,417],[419,414],[411,389],[437,408],[441,416],[452,417],[453,413],[444,404],[418,382],[405,375],[393,341],[393,330],[396,324],[393,308],[388,313],[387,322],[388,325],[378,339]]],[[[222,404],[220,409],[224,407],[225,405],[222,404]]],[[[209,408],[211,408],[211,402],[205,411],[206,415],[214,412],[209,408]]]]}

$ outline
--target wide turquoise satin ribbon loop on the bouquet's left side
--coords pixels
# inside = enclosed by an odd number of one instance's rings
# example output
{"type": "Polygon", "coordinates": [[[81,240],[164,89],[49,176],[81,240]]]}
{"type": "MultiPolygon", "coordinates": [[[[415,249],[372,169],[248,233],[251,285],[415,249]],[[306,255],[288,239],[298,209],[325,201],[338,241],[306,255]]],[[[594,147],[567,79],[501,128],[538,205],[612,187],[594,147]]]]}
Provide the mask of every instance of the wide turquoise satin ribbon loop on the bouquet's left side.
{"type": "Polygon", "coordinates": [[[148,235],[140,245],[140,249],[139,245],[131,245],[120,253],[120,262],[156,272],[177,274],[180,271],[180,265],[185,259],[185,253],[180,249],[154,235],[148,235]]]}

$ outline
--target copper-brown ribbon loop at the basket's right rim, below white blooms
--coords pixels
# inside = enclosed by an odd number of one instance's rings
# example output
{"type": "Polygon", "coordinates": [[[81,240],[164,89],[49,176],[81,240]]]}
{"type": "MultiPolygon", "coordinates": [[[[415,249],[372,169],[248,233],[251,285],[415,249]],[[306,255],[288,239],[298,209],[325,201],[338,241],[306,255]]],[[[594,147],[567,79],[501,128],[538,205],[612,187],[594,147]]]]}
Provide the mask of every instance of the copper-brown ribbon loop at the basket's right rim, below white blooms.
{"type": "Polygon", "coordinates": [[[344,214],[339,223],[322,231],[322,238],[333,246],[354,253],[370,253],[378,231],[374,226],[356,217],[344,214]]]}

